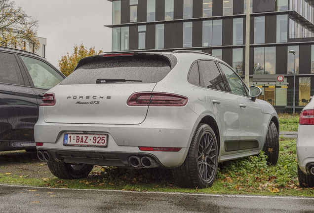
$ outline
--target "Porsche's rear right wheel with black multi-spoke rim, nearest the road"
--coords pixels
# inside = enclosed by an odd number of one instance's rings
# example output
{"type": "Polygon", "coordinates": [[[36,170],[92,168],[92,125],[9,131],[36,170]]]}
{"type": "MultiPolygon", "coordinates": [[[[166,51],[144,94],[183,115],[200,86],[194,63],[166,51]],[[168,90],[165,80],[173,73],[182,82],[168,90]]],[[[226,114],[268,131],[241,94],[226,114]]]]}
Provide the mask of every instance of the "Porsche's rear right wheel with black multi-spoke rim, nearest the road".
{"type": "Polygon", "coordinates": [[[210,126],[200,123],[184,163],[172,170],[173,178],[177,185],[184,188],[210,187],[216,178],[217,167],[218,145],[215,133],[210,126]]]}

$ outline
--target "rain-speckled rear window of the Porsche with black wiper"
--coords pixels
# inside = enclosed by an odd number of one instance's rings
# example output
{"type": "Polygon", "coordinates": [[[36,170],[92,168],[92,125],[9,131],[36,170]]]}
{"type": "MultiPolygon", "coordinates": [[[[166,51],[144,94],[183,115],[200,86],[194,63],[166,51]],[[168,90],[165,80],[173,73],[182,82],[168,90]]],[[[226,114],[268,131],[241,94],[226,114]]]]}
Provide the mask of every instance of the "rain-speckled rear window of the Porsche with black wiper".
{"type": "Polygon", "coordinates": [[[169,62],[160,57],[104,57],[104,60],[82,65],[60,84],[95,84],[96,79],[137,80],[110,83],[154,83],[169,71],[169,62]]]}

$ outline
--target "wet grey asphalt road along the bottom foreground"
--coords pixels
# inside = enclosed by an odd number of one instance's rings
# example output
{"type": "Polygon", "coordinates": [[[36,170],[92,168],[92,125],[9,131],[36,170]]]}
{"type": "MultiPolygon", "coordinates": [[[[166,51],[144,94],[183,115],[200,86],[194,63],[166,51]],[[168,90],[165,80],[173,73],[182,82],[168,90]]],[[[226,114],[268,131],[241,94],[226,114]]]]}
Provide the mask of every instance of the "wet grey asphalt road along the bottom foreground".
{"type": "Polygon", "coordinates": [[[0,213],[310,213],[314,198],[0,185],[0,213]]]}

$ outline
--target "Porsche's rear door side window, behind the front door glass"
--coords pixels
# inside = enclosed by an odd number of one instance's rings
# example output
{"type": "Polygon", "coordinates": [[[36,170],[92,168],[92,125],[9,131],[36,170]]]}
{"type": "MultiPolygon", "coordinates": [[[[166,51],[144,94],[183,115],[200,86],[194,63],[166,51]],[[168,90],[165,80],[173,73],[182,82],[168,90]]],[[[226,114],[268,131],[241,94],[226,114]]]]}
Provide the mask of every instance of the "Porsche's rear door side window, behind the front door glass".
{"type": "Polygon", "coordinates": [[[223,78],[214,61],[199,61],[200,86],[226,91],[223,78]]]}

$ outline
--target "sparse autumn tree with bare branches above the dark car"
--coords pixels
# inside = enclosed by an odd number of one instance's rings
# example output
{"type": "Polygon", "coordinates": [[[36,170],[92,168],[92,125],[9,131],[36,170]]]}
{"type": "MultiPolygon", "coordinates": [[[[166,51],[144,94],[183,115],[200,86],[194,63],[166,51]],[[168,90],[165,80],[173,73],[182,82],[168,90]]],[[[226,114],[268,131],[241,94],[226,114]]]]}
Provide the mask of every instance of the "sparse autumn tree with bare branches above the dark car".
{"type": "Polygon", "coordinates": [[[27,41],[34,51],[39,49],[38,20],[14,5],[14,1],[0,0],[0,46],[25,50],[27,41]]]}

